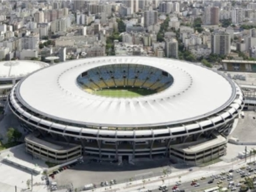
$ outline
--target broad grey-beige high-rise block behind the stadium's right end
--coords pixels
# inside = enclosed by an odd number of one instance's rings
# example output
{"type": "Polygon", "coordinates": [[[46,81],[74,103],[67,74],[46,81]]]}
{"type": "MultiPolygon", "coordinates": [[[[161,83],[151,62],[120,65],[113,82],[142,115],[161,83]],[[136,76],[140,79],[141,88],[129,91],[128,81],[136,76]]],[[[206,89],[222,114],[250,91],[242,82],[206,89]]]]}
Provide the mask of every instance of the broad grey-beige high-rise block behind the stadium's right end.
{"type": "Polygon", "coordinates": [[[228,55],[230,53],[230,34],[223,31],[212,33],[211,50],[213,54],[228,55]]]}

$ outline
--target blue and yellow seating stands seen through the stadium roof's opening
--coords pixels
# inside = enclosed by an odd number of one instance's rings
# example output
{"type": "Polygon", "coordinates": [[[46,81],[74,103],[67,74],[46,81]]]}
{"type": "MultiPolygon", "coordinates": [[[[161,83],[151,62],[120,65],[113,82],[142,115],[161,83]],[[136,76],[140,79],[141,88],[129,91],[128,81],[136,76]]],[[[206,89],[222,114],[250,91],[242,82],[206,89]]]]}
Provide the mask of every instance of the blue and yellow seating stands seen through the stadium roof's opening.
{"type": "Polygon", "coordinates": [[[173,83],[167,72],[141,64],[112,64],[83,72],[78,83],[89,93],[111,87],[140,87],[160,92],[173,83]]]}

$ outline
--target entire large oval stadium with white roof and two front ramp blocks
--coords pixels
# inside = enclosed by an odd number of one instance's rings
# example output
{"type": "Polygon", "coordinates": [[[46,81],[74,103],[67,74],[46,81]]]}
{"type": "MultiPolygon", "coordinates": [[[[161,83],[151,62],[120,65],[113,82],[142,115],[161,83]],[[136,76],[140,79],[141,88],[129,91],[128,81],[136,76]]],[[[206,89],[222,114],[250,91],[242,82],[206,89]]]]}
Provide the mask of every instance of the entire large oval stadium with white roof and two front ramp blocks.
{"type": "Polygon", "coordinates": [[[27,152],[57,163],[168,156],[200,164],[225,155],[243,106],[240,87],[217,71],[141,56],[46,67],[8,96],[8,108],[31,132],[27,152]]]}

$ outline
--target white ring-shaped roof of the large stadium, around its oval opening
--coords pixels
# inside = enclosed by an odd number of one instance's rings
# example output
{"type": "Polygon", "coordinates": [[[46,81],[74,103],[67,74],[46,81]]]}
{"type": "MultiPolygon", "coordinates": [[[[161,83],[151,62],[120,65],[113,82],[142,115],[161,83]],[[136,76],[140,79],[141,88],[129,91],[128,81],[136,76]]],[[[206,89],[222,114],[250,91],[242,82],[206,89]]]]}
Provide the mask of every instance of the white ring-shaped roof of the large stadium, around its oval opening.
{"type": "MultiPolygon", "coordinates": [[[[17,91],[18,90],[18,91],[17,91]]],[[[157,126],[197,120],[231,104],[234,83],[208,68],[180,60],[109,56],[72,60],[30,74],[16,95],[30,110],[50,118],[98,126],[157,126]],[[174,78],[166,90],[138,98],[95,96],[82,90],[77,77],[108,64],[143,64],[174,78]]]]}

